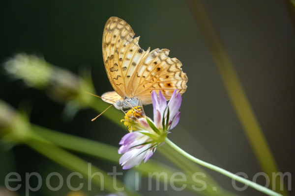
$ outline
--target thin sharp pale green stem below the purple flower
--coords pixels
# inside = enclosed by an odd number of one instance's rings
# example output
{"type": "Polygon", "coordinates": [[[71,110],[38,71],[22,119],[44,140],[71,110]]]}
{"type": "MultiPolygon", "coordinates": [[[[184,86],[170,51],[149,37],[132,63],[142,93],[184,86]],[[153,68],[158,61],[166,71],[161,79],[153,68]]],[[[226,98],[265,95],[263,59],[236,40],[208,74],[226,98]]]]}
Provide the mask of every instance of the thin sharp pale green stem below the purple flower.
{"type": "Polygon", "coordinates": [[[261,192],[263,192],[263,193],[265,193],[265,194],[267,194],[269,196],[282,196],[281,194],[278,194],[278,193],[276,193],[276,192],[274,192],[274,191],[272,191],[270,189],[267,189],[266,187],[261,186],[261,185],[255,183],[255,182],[252,182],[252,181],[247,180],[247,179],[245,179],[243,177],[240,177],[240,176],[238,176],[238,175],[236,175],[236,174],[234,174],[232,172],[228,172],[228,171],[226,171],[226,170],[224,170],[222,168],[219,168],[219,167],[214,166],[212,164],[209,164],[209,163],[207,163],[205,161],[197,159],[196,157],[188,154],[183,149],[178,147],[176,144],[171,142],[168,138],[166,138],[165,142],[169,146],[173,147],[177,152],[179,152],[180,154],[182,154],[183,156],[185,156],[189,160],[191,160],[191,161],[193,161],[193,162],[195,162],[195,163],[197,163],[197,164],[199,164],[201,166],[204,166],[204,167],[209,168],[211,170],[214,170],[216,172],[222,173],[222,174],[224,174],[224,175],[226,175],[226,176],[228,176],[228,177],[230,177],[230,178],[232,178],[232,179],[234,179],[234,180],[236,180],[238,182],[241,182],[241,183],[246,184],[246,185],[248,185],[248,186],[250,186],[252,188],[255,188],[256,190],[261,191],[261,192]]]}

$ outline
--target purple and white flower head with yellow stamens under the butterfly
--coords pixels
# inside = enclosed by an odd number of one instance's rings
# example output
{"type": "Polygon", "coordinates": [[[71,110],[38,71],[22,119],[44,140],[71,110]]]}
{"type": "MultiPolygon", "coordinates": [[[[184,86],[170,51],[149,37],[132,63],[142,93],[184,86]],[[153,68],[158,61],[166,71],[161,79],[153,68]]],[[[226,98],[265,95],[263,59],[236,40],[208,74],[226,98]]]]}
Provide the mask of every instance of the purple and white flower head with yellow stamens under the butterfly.
{"type": "Polygon", "coordinates": [[[169,103],[159,91],[159,98],[155,91],[152,92],[152,104],[154,121],[148,118],[142,111],[142,107],[136,106],[125,115],[124,124],[129,126],[127,133],[120,141],[122,145],[118,153],[123,154],[119,164],[123,169],[130,169],[139,165],[142,160],[147,162],[155,152],[156,147],[162,145],[169,131],[179,122],[181,96],[174,91],[169,103]]]}

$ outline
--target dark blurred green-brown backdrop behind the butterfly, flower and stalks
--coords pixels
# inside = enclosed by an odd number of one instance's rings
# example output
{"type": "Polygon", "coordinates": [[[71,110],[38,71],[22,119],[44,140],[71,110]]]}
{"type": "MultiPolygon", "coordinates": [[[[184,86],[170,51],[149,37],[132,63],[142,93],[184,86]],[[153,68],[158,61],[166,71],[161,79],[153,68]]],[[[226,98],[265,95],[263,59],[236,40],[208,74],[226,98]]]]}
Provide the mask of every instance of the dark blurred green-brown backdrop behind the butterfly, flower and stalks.
{"type": "MultiPolygon", "coordinates": [[[[295,28],[286,2],[204,2],[280,172],[294,174],[295,28]]],[[[169,57],[176,57],[183,65],[188,88],[182,96],[180,122],[169,134],[169,139],[197,158],[234,173],[245,172],[249,179],[261,172],[204,36],[185,1],[3,0],[0,2],[0,60],[3,63],[9,57],[25,52],[44,57],[47,62],[72,73],[90,69],[96,93],[102,95],[113,90],[105,72],[101,47],[104,25],[112,16],[131,25],[135,37],[141,36],[139,45],[142,49],[170,49],[169,57]]],[[[103,116],[91,122],[98,113],[90,109],[80,110],[72,120],[65,120],[62,117],[64,104],[53,101],[42,91],[28,88],[22,80],[13,80],[3,66],[0,99],[15,108],[23,102],[29,103],[31,123],[59,132],[115,147],[119,147],[118,142],[126,133],[103,116]]],[[[152,116],[151,105],[146,106],[145,111],[152,116]]],[[[112,172],[112,167],[118,166],[77,155],[106,172],[112,172]]],[[[158,152],[152,158],[173,166],[158,152]]],[[[22,179],[26,172],[38,172],[41,176],[50,172],[64,176],[70,173],[25,145],[1,147],[0,167],[2,187],[9,172],[18,172],[22,179]]],[[[123,172],[121,180],[128,171],[123,172]]],[[[230,178],[207,172],[223,188],[237,195],[263,195],[252,188],[237,192],[230,178]]],[[[258,178],[258,182],[264,185],[265,179],[258,178]]],[[[69,192],[65,187],[52,192],[44,186],[31,195],[64,196],[69,192]]],[[[89,196],[106,195],[94,186],[92,192],[86,193],[89,196]]],[[[193,195],[171,188],[148,191],[145,183],[140,193],[145,196],[193,195]]],[[[25,186],[17,194],[25,195],[25,186]]]]}

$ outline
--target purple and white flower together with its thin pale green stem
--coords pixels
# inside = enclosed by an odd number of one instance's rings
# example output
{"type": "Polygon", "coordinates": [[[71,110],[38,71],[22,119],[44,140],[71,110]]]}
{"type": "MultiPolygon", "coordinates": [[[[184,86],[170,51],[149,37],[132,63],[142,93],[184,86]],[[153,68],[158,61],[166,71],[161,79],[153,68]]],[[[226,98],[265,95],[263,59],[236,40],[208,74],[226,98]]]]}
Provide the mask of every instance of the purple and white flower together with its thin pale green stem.
{"type": "Polygon", "coordinates": [[[161,91],[159,91],[159,98],[155,91],[152,92],[154,121],[145,116],[140,106],[134,107],[127,112],[125,120],[123,121],[125,121],[124,124],[126,126],[129,126],[130,133],[122,138],[119,143],[122,146],[118,150],[119,154],[124,153],[119,160],[119,163],[123,165],[123,169],[130,169],[135,165],[139,165],[143,159],[145,159],[146,162],[154,153],[156,147],[159,147],[165,142],[181,155],[201,166],[222,173],[233,180],[246,184],[269,196],[281,196],[281,194],[255,182],[202,161],[171,142],[167,138],[167,135],[170,133],[170,130],[177,125],[180,116],[178,109],[181,104],[181,96],[180,94],[176,94],[176,92],[177,91],[174,91],[168,104],[166,103],[165,97],[161,94],[161,91]]]}

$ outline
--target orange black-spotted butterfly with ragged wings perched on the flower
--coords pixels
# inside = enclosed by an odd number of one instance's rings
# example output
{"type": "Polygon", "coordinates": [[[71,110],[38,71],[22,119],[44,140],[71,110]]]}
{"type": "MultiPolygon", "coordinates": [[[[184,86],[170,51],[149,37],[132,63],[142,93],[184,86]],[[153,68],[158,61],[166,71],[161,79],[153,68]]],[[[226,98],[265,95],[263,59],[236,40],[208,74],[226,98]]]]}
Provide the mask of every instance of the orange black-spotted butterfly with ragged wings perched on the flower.
{"type": "Polygon", "coordinates": [[[180,68],[181,62],[169,58],[169,49],[149,52],[140,48],[140,37],[134,38],[130,25],[122,19],[111,17],[104,28],[102,54],[108,78],[115,91],[104,93],[104,101],[117,109],[132,108],[152,103],[151,92],[162,92],[169,100],[177,89],[183,94],[187,76],[180,68]]]}

